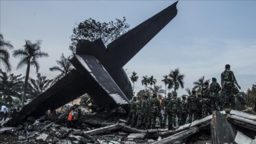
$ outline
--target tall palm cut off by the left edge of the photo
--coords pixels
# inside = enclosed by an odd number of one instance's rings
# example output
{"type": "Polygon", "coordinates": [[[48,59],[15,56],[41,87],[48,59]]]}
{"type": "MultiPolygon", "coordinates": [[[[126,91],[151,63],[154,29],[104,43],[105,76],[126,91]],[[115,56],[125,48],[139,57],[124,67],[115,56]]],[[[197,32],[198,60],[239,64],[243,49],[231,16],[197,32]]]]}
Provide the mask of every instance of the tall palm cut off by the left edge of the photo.
{"type": "Polygon", "coordinates": [[[11,64],[9,62],[10,55],[5,47],[9,49],[13,48],[11,43],[9,41],[5,41],[3,39],[3,35],[0,33],[0,60],[3,61],[3,63],[5,64],[7,71],[11,71],[11,64]]]}

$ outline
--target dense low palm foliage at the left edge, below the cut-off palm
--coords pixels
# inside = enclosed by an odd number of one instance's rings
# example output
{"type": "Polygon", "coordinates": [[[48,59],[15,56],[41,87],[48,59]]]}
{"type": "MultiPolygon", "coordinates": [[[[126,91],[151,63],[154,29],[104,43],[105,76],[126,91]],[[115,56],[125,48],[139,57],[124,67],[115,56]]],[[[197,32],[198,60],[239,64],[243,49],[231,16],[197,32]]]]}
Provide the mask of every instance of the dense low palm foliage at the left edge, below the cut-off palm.
{"type": "Polygon", "coordinates": [[[21,99],[22,85],[21,75],[8,75],[0,69],[0,96],[5,103],[11,103],[12,97],[21,99]]]}

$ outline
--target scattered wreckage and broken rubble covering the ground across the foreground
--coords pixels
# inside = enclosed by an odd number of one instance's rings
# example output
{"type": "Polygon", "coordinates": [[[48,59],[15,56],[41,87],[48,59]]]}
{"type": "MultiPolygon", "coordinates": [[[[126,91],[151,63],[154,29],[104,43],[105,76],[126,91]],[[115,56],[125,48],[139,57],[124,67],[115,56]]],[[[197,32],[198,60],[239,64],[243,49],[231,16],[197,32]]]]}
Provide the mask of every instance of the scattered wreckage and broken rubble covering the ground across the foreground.
{"type": "Polygon", "coordinates": [[[116,112],[83,115],[79,126],[69,128],[62,122],[63,115],[54,122],[35,120],[0,128],[2,143],[256,143],[256,115],[236,110],[214,111],[174,130],[131,128],[125,115],[116,112]]]}

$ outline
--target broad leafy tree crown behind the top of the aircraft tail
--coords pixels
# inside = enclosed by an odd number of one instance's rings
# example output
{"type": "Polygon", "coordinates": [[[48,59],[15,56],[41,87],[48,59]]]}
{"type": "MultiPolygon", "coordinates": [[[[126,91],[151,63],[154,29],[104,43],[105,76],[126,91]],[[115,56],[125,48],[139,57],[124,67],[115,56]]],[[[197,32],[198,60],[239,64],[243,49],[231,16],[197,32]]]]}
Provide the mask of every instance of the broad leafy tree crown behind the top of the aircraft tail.
{"type": "Polygon", "coordinates": [[[108,45],[117,37],[127,32],[129,24],[126,23],[125,17],[123,20],[116,18],[116,22],[96,22],[92,18],[80,22],[77,27],[74,27],[73,34],[71,36],[70,50],[75,54],[75,47],[80,39],[86,39],[89,41],[95,41],[96,39],[102,39],[105,45],[108,45]]]}

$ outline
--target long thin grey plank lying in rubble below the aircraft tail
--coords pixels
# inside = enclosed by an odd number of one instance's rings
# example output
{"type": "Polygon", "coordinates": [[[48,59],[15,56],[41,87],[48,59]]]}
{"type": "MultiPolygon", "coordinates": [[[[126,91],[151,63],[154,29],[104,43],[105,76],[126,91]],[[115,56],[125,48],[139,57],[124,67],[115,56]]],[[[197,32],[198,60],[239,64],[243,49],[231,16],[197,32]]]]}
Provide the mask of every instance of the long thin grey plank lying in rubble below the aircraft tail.
{"type": "Polygon", "coordinates": [[[95,134],[102,134],[104,132],[111,132],[113,130],[118,130],[123,128],[124,124],[113,124],[110,126],[104,126],[102,128],[96,128],[93,130],[88,130],[86,132],[84,132],[85,134],[89,134],[89,135],[95,135],[95,134]]]}

